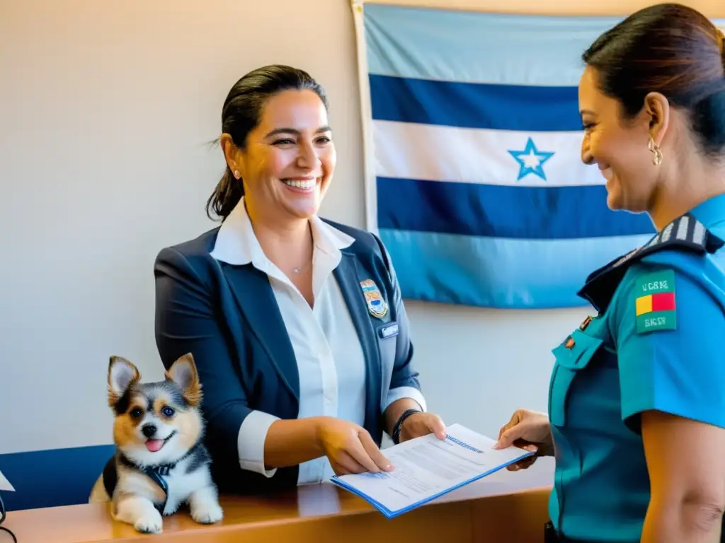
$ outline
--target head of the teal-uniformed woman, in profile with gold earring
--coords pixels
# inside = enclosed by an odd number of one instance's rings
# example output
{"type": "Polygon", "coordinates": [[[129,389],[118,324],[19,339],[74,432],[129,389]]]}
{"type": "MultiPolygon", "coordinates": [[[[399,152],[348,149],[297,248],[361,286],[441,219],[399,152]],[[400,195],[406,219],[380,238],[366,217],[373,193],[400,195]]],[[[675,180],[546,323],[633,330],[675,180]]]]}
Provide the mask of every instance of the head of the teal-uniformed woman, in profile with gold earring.
{"type": "Polygon", "coordinates": [[[650,10],[640,24],[655,24],[660,11],[671,19],[657,22],[656,32],[623,25],[595,41],[583,55],[579,85],[582,160],[602,170],[610,208],[653,210],[659,229],[700,198],[682,183],[695,164],[671,154],[718,162],[725,146],[723,34],[681,7],[650,10]],[[663,153],[670,157],[665,164],[663,153]]]}

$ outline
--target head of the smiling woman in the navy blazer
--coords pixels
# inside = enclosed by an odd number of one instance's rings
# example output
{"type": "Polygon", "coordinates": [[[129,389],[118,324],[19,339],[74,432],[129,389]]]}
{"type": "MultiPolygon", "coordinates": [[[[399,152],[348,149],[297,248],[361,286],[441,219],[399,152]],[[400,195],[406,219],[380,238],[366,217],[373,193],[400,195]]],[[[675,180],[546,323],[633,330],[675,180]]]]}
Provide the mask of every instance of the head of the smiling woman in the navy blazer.
{"type": "Polygon", "coordinates": [[[248,211],[252,201],[260,211],[315,214],[336,162],[327,108],[323,88],[301,70],[267,67],[242,77],[222,109],[220,143],[227,168],[207,202],[210,216],[225,219],[247,191],[252,193],[248,211]],[[309,198],[285,199],[270,180],[309,198]],[[268,205],[275,201],[282,207],[268,205]]]}

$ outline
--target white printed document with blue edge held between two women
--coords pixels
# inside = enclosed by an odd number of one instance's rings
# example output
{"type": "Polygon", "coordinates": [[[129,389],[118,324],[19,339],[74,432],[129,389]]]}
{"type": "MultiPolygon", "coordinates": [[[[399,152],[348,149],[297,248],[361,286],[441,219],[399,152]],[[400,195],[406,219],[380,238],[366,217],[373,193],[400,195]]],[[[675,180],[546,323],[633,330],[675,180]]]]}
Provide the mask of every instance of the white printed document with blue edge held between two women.
{"type": "Polygon", "coordinates": [[[383,450],[394,471],[352,473],[331,481],[368,500],[388,518],[417,508],[534,453],[518,447],[494,450],[494,439],[460,424],[383,450]]]}

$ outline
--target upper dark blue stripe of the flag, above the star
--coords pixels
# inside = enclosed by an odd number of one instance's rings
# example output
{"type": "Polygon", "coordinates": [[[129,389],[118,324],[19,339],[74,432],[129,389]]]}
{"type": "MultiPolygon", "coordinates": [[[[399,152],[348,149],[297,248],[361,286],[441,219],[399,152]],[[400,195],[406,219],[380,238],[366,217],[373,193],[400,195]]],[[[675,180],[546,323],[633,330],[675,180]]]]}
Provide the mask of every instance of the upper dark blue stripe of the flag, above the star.
{"type": "Polygon", "coordinates": [[[373,119],[464,128],[581,130],[576,87],[526,87],[370,75],[373,119]]]}

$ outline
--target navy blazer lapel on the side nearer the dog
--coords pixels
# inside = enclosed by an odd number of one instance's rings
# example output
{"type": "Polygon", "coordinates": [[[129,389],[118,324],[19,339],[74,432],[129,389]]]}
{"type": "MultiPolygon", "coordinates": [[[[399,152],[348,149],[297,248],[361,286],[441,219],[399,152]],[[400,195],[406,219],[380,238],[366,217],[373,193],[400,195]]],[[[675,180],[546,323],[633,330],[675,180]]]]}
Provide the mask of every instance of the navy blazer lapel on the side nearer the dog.
{"type": "Polygon", "coordinates": [[[267,275],[251,264],[223,264],[222,269],[249,327],[269,354],[289,392],[299,401],[297,358],[267,275]]]}

